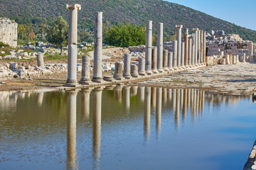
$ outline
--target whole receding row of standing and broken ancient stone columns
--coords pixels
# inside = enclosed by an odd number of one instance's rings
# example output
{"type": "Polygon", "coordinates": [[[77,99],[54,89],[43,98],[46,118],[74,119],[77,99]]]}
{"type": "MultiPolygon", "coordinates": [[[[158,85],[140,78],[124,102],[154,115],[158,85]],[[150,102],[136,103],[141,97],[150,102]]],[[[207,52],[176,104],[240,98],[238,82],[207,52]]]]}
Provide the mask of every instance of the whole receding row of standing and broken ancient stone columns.
{"type": "MultiPolygon", "coordinates": [[[[78,10],[79,4],[67,5],[69,10],[68,30],[68,80],[64,86],[78,86],[77,80],[77,35],[78,35],[78,10]]],[[[184,34],[184,42],[181,40],[181,29],[183,26],[176,26],[177,40],[173,41],[173,49],[168,52],[164,50],[163,23],[159,23],[157,49],[152,49],[152,21],[146,23],[146,57],[139,58],[139,68],[131,64],[131,56],[124,55],[124,66],[122,63],[115,64],[114,79],[131,79],[139,75],[151,75],[161,72],[181,71],[205,64],[206,57],[206,32],[193,29],[194,34],[188,35],[188,29],[184,34]],[[192,39],[192,41],[191,41],[192,39]],[[124,73],[122,74],[122,67],[124,73]],[[131,69],[132,67],[132,69],[131,69]]],[[[102,79],[102,12],[95,13],[95,51],[93,62],[93,77],[90,79],[90,57],[82,57],[82,78],[80,84],[90,82],[101,83],[102,79]]],[[[111,77],[107,77],[113,81],[111,77]]],[[[108,81],[106,79],[106,81],[108,81]]]]}

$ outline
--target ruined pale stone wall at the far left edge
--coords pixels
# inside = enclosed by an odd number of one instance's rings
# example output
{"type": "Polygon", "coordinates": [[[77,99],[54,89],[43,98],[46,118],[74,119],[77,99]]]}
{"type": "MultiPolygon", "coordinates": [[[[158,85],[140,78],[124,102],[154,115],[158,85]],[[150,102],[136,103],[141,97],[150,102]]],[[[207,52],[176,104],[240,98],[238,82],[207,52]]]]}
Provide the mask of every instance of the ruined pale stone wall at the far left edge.
{"type": "Polygon", "coordinates": [[[0,18],[0,41],[11,47],[17,46],[17,29],[18,23],[8,18],[0,18]]]}

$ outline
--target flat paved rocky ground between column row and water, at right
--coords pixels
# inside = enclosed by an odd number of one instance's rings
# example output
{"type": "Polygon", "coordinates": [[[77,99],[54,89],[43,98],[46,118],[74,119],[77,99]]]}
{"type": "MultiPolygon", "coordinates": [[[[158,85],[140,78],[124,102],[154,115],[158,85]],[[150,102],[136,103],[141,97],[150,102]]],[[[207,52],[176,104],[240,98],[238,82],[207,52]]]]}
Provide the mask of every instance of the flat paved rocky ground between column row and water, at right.
{"type": "Polygon", "coordinates": [[[167,77],[149,79],[139,84],[196,88],[234,95],[250,95],[254,91],[256,92],[256,64],[215,65],[171,74],[167,77]]]}

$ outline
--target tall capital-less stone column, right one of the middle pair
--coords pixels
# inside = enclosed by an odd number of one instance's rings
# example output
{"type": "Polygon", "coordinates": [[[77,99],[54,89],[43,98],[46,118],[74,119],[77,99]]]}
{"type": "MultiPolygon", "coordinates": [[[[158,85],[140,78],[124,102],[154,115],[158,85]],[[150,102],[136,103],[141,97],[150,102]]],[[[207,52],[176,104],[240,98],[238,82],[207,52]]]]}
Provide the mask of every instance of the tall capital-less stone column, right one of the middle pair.
{"type": "Polygon", "coordinates": [[[163,72],[163,23],[159,23],[157,34],[157,71],[163,72]]]}

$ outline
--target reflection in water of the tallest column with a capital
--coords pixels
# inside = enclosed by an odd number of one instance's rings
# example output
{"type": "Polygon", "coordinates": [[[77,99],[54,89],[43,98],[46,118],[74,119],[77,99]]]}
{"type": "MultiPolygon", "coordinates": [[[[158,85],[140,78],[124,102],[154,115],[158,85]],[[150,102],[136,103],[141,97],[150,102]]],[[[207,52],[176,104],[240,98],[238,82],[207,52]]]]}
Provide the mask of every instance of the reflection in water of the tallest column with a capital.
{"type": "Polygon", "coordinates": [[[67,164],[66,169],[78,169],[76,161],[76,98],[78,91],[67,91],[67,164]]]}

